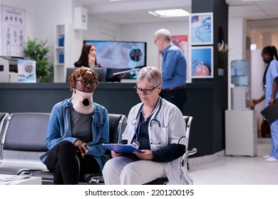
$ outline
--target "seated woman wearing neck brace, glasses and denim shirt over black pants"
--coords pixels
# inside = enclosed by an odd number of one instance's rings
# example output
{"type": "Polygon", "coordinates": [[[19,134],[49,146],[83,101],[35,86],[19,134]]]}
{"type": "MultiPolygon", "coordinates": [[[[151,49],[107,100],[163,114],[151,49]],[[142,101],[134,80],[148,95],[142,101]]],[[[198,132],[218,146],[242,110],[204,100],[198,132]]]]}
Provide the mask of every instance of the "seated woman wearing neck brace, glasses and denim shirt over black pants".
{"type": "Polygon", "coordinates": [[[78,184],[80,173],[101,173],[109,141],[105,107],[93,102],[98,75],[91,68],[76,69],[70,77],[70,99],[53,106],[46,132],[49,151],[41,156],[53,172],[53,184],[78,184]]]}

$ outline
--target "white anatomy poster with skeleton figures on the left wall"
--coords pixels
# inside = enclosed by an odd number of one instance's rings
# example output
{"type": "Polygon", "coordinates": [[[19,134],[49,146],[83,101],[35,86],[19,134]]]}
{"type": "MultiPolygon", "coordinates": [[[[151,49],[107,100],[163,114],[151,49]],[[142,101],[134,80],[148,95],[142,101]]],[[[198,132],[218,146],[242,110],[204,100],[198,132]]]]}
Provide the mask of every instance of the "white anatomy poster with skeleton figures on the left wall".
{"type": "Polygon", "coordinates": [[[2,5],[2,55],[24,57],[25,10],[2,5]]]}

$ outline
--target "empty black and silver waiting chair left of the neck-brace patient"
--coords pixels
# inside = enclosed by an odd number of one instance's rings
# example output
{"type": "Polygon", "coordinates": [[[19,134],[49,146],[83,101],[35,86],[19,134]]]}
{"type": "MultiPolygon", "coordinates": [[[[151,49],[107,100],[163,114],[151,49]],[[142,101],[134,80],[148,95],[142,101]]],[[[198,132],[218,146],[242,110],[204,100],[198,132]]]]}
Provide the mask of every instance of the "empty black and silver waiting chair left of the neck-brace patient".
{"type": "Polygon", "coordinates": [[[47,170],[38,158],[45,153],[48,113],[12,113],[1,139],[0,173],[21,175],[47,170]]]}

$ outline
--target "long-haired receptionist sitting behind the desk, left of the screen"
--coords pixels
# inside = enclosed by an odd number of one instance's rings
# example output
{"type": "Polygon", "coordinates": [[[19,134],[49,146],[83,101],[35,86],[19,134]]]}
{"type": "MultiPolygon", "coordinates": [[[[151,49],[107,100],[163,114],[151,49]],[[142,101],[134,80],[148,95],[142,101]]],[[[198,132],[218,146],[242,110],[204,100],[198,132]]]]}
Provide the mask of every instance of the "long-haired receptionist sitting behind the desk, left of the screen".
{"type": "Polygon", "coordinates": [[[100,68],[101,65],[96,63],[96,45],[91,43],[85,43],[82,47],[81,55],[79,60],[74,63],[76,68],[81,66],[88,68],[100,68]]]}

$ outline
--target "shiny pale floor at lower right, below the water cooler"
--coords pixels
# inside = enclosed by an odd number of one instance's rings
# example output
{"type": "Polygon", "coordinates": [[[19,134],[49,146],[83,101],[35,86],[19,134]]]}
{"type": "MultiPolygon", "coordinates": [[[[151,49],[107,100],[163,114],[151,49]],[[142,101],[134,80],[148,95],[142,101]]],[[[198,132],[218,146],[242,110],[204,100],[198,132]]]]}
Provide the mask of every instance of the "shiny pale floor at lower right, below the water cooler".
{"type": "Polygon", "coordinates": [[[271,139],[259,138],[257,156],[221,156],[216,161],[190,166],[195,185],[278,185],[278,162],[266,163],[271,139]]]}

